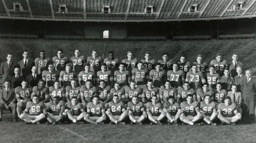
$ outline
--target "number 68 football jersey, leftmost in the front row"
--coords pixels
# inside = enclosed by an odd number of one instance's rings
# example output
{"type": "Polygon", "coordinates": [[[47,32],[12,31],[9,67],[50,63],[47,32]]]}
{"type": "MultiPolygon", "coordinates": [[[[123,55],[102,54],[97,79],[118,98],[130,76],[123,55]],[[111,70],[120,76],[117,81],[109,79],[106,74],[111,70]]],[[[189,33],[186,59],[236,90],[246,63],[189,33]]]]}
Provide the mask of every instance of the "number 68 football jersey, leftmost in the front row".
{"type": "Polygon", "coordinates": [[[32,101],[28,101],[26,106],[26,109],[29,111],[29,115],[40,115],[41,113],[43,113],[44,108],[46,107],[42,102],[35,104],[32,101]]]}

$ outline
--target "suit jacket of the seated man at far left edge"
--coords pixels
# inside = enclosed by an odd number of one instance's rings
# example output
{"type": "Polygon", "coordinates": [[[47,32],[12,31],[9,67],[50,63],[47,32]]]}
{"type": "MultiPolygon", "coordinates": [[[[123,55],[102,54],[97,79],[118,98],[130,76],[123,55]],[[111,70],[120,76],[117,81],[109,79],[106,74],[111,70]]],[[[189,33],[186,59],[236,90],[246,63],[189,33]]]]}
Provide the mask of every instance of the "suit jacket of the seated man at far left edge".
{"type": "Polygon", "coordinates": [[[2,104],[6,103],[7,105],[9,105],[10,102],[14,102],[14,103],[17,102],[14,88],[9,89],[8,95],[7,95],[7,91],[5,88],[1,89],[0,90],[0,103],[2,103],[2,104]]]}

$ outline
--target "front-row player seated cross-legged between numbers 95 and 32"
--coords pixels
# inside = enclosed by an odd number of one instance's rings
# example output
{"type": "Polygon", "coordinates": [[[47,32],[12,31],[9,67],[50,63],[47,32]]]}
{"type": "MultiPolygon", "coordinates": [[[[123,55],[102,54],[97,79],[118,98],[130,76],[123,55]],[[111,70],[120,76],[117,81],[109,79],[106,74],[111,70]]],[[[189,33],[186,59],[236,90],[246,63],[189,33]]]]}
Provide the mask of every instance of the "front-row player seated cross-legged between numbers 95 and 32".
{"type": "Polygon", "coordinates": [[[204,96],[204,101],[200,102],[200,112],[203,116],[203,120],[209,124],[209,125],[216,125],[216,123],[213,123],[218,115],[217,112],[217,103],[214,101],[211,101],[210,95],[204,96]]]}

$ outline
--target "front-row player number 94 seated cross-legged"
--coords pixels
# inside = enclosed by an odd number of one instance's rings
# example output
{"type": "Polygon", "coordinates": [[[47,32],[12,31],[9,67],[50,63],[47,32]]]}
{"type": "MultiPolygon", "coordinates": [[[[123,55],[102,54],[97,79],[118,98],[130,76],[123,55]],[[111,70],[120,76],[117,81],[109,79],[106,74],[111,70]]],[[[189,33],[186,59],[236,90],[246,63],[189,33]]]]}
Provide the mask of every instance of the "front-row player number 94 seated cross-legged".
{"type": "Polygon", "coordinates": [[[47,104],[47,108],[43,109],[43,113],[47,115],[47,124],[55,125],[65,118],[63,114],[65,110],[65,102],[58,96],[53,97],[52,101],[47,104]]]}

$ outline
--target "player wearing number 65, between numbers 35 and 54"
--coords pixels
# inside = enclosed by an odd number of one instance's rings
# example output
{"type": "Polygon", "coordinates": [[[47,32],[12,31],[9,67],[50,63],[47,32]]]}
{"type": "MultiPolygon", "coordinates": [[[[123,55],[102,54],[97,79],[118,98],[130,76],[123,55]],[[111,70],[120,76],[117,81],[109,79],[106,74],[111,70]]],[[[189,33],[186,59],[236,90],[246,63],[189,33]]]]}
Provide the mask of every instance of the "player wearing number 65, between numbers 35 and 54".
{"type": "Polygon", "coordinates": [[[75,71],[71,71],[72,69],[72,64],[71,63],[67,63],[66,64],[66,68],[65,71],[61,71],[60,72],[60,86],[62,87],[66,87],[68,85],[71,85],[70,82],[71,80],[75,79],[76,80],[76,72],[75,71]]]}

